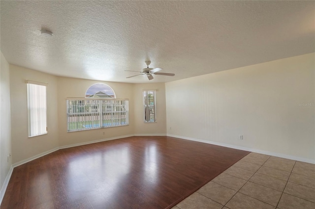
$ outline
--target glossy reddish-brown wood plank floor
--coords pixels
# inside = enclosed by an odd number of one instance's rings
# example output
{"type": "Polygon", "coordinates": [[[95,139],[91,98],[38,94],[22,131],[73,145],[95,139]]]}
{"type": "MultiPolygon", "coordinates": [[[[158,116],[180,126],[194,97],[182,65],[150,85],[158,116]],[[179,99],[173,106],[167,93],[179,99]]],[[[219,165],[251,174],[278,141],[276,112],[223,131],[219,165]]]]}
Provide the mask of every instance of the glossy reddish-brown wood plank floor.
{"type": "Polygon", "coordinates": [[[167,136],[58,150],[14,168],[1,209],[165,209],[250,152],[167,136]]]}

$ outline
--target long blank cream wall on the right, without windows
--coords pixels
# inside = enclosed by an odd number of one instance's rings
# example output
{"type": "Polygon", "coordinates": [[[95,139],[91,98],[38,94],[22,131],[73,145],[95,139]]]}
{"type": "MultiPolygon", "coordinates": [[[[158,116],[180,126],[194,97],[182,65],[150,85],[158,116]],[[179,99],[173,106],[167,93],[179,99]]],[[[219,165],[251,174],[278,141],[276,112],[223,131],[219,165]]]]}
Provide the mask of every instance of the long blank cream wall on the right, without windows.
{"type": "Polygon", "coordinates": [[[167,134],[315,162],[314,57],[166,83],[167,134]]]}

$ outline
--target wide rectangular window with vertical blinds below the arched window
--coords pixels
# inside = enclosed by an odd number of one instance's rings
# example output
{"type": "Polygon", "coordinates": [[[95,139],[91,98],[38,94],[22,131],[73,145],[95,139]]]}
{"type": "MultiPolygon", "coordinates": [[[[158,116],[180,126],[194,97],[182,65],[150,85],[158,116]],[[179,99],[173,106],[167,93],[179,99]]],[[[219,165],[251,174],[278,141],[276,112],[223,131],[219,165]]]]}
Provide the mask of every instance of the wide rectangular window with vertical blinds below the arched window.
{"type": "Polygon", "coordinates": [[[83,131],[129,125],[127,99],[67,100],[67,130],[83,131]]]}

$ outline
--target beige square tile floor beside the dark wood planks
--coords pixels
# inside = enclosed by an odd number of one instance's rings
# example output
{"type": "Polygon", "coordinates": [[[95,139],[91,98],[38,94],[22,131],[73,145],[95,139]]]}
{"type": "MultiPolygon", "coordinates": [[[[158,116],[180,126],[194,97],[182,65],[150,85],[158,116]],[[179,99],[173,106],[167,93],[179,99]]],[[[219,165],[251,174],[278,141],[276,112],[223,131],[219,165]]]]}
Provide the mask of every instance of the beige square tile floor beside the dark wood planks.
{"type": "Polygon", "coordinates": [[[315,164],[250,153],[172,209],[315,209],[315,164]]]}

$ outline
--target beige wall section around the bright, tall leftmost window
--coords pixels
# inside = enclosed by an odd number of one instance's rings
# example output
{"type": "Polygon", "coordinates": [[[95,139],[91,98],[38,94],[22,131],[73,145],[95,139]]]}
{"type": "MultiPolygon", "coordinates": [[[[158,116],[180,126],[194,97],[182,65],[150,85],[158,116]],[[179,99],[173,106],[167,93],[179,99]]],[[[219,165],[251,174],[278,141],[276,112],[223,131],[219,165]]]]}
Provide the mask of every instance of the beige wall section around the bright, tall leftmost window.
{"type": "Polygon", "coordinates": [[[38,71],[10,65],[10,94],[12,163],[58,147],[57,78],[38,71]],[[25,80],[48,83],[47,134],[28,137],[27,84],[25,80]]]}

